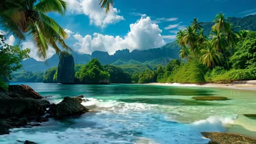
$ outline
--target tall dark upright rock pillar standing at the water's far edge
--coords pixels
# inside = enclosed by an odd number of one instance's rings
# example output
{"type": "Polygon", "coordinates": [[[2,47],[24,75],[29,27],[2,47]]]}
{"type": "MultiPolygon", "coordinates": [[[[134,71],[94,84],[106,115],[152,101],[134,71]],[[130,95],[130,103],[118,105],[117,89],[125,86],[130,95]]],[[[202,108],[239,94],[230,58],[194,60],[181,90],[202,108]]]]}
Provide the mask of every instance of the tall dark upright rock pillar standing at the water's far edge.
{"type": "Polygon", "coordinates": [[[58,83],[74,83],[74,58],[68,52],[62,52],[57,70],[58,83]]]}

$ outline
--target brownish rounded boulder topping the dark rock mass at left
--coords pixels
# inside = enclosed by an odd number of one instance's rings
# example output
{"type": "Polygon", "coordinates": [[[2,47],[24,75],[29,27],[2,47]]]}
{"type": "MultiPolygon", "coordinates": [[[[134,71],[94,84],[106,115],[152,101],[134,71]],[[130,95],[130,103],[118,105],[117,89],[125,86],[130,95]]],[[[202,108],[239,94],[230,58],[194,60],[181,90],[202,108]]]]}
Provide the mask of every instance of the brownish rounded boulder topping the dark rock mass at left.
{"type": "Polygon", "coordinates": [[[11,98],[42,99],[43,97],[27,85],[9,85],[7,95],[11,98]]]}

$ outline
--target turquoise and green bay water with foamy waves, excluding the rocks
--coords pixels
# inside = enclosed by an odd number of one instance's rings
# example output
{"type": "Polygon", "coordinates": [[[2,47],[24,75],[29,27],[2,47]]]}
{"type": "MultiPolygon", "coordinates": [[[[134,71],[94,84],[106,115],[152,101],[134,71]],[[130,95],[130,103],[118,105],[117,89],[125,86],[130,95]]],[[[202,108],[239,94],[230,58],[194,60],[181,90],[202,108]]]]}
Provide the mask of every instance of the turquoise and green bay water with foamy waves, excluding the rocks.
{"type": "MultiPolygon", "coordinates": [[[[17,83],[15,83],[17,84],[17,83]]],[[[202,131],[256,136],[255,91],[150,85],[59,85],[25,83],[51,103],[84,95],[95,112],[50,119],[42,126],[11,129],[0,143],[207,143],[202,131]],[[223,96],[226,101],[196,101],[194,96],[223,96]]]]}

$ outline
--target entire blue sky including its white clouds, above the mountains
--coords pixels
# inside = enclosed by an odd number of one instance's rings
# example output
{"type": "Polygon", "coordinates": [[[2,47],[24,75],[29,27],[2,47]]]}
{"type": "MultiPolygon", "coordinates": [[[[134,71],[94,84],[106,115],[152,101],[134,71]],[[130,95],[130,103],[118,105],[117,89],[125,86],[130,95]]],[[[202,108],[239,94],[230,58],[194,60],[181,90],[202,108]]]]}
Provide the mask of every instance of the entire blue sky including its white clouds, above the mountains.
{"type": "MultiPolygon", "coordinates": [[[[176,32],[194,17],[205,22],[218,13],[235,17],[256,14],[255,0],[114,0],[108,14],[100,9],[98,0],[66,1],[65,16],[48,15],[69,33],[66,43],[74,51],[89,54],[160,47],[173,41],[176,32]]],[[[30,47],[31,57],[40,60],[31,41],[22,45],[30,47]]],[[[53,54],[50,49],[48,57],[53,54]]]]}

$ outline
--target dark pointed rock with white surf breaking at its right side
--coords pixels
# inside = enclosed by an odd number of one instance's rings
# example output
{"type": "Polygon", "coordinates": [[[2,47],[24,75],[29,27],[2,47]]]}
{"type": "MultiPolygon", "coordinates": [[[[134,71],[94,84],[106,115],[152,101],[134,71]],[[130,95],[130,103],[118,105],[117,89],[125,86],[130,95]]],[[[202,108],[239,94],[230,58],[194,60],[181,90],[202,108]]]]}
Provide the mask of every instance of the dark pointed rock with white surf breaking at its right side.
{"type": "Polygon", "coordinates": [[[50,117],[63,118],[75,115],[81,115],[88,112],[85,106],[79,103],[78,100],[65,97],[61,103],[52,105],[48,110],[50,117]]]}

